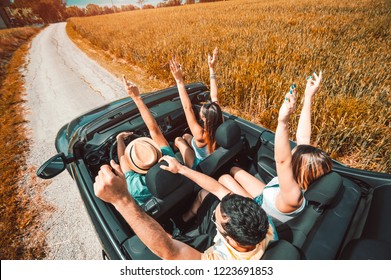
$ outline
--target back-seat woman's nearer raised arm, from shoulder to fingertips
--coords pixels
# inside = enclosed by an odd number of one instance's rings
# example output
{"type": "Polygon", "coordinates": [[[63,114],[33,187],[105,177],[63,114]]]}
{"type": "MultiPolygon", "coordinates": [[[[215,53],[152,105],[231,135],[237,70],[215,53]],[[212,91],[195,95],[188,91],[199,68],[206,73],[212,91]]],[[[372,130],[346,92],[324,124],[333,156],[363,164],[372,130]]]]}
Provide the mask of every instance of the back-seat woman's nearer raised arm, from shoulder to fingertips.
{"type": "Polygon", "coordinates": [[[295,93],[287,93],[278,115],[274,143],[274,158],[280,185],[276,204],[282,212],[293,211],[301,197],[301,190],[293,176],[292,152],[289,144],[289,119],[295,110],[295,105],[295,93]]]}

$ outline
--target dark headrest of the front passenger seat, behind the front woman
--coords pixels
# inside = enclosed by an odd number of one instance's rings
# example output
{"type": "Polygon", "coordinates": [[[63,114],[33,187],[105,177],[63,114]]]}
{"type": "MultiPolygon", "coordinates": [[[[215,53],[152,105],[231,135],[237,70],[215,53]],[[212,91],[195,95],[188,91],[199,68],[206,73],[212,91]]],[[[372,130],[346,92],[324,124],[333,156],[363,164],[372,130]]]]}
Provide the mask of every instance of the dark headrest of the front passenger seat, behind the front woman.
{"type": "Polygon", "coordinates": [[[226,120],[216,130],[216,142],[225,149],[239,142],[241,129],[233,120],[226,120]]]}

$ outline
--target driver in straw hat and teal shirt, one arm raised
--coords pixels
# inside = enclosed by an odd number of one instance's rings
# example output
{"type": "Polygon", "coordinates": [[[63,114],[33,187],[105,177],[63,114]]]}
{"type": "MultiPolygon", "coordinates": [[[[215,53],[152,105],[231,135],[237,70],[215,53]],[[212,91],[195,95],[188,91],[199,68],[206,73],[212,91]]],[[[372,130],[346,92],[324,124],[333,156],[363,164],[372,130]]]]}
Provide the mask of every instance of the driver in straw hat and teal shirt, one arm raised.
{"type": "MultiPolygon", "coordinates": [[[[159,161],[162,155],[173,157],[175,155],[160,131],[155,118],[144,104],[137,86],[128,81],[125,75],[122,76],[122,79],[127,93],[139,109],[152,138],[140,137],[125,147],[124,138],[133,132],[121,132],[117,135],[117,153],[121,170],[125,174],[128,191],[139,205],[143,205],[152,197],[145,182],[145,174],[159,161]]],[[[114,168],[116,163],[111,161],[111,166],[114,168]]]]}

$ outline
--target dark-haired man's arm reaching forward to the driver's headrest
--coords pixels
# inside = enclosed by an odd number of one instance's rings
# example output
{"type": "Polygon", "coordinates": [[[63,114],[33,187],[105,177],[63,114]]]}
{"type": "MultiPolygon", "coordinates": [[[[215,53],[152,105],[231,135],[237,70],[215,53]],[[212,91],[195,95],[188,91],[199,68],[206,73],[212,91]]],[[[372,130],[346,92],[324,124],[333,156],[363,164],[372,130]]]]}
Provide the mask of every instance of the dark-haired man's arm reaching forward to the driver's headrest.
{"type": "Polygon", "coordinates": [[[173,157],[163,156],[161,160],[166,161],[168,163],[168,166],[161,165],[160,168],[170,171],[171,173],[179,173],[183,176],[186,176],[204,190],[217,196],[220,200],[222,200],[224,196],[230,193],[227,188],[225,188],[222,184],[220,184],[212,177],[209,177],[208,175],[192,170],[191,168],[180,164],[173,157]]]}

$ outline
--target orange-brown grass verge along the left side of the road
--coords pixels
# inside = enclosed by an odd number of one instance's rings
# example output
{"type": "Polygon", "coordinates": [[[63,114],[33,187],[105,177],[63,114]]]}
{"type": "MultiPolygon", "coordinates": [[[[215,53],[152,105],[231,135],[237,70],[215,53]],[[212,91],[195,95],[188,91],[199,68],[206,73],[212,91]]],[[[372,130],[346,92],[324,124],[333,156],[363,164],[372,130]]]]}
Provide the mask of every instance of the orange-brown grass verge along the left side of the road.
{"type": "Polygon", "coordinates": [[[24,81],[19,69],[38,28],[0,30],[0,259],[42,259],[44,211],[51,207],[26,164],[29,137],[24,118],[24,81]]]}

